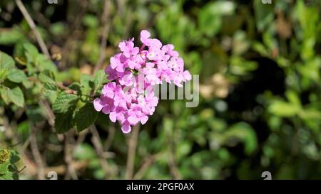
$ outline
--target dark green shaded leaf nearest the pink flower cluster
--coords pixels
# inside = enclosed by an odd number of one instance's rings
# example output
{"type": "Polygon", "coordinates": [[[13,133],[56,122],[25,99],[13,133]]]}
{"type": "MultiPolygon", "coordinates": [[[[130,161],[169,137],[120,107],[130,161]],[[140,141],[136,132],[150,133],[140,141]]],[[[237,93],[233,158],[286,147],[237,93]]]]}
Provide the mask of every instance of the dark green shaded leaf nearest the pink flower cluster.
{"type": "Polygon", "coordinates": [[[93,109],[93,104],[88,102],[78,112],[76,112],[75,120],[78,131],[88,128],[97,119],[98,112],[93,109]]]}

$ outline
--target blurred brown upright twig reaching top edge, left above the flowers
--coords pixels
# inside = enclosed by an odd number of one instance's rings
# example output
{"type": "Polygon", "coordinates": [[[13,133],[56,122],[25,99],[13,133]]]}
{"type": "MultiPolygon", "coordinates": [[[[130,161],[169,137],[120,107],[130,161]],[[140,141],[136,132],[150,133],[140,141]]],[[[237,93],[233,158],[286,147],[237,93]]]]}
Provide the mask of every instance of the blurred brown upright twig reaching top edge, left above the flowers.
{"type": "Polygon", "coordinates": [[[106,44],[107,44],[106,42],[108,38],[108,31],[109,31],[109,25],[110,25],[108,21],[110,7],[111,7],[111,1],[105,0],[105,4],[103,6],[103,15],[101,18],[101,23],[103,23],[103,34],[101,36],[101,49],[99,53],[98,62],[96,63],[95,68],[93,69],[93,73],[95,73],[97,70],[101,68],[101,65],[103,65],[103,60],[105,60],[106,44]]]}

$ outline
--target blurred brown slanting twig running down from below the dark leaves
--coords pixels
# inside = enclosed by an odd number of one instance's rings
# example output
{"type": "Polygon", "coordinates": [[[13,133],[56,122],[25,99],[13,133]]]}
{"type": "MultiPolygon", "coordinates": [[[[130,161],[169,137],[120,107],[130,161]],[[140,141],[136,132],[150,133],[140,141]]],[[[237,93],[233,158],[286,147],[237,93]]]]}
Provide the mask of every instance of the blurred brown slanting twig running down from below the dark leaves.
{"type": "Polygon", "coordinates": [[[93,135],[91,137],[91,142],[93,142],[93,146],[96,149],[96,153],[97,153],[97,155],[99,157],[99,161],[101,163],[101,168],[103,168],[103,171],[105,171],[105,177],[108,178],[109,171],[108,171],[108,163],[106,161],[107,157],[103,151],[103,146],[101,144],[101,137],[99,136],[95,125],[92,124],[90,126],[90,131],[91,131],[91,134],[93,135]]]}

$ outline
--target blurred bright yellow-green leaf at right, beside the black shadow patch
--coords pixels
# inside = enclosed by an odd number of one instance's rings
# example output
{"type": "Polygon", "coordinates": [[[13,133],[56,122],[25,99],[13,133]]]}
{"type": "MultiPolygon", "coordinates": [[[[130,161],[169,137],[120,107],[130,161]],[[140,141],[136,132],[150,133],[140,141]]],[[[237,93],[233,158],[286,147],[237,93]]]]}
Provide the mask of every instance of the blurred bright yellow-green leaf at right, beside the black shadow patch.
{"type": "Polygon", "coordinates": [[[289,102],[275,100],[267,109],[270,113],[280,117],[293,117],[300,111],[300,107],[289,102]]]}

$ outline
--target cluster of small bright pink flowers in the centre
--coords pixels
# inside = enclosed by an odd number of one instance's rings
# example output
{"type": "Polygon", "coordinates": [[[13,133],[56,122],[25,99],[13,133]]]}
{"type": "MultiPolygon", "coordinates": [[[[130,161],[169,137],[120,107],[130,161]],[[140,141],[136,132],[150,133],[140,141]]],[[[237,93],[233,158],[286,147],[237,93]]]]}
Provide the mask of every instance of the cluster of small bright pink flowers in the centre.
{"type": "Polygon", "coordinates": [[[111,122],[120,122],[125,134],[138,122],[145,124],[155,111],[158,97],[153,85],[165,80],[183,87],[182,82],[191,80],[173,45],[162,45],[146,30],[141,31],[141,48],[133,41],[131,38],[119,43],[121,53],[111,58],[111,65],[105,70],[111,82],[103,86],[101,97],[93,101],[96,111],[109,114],[111,122]]]}

